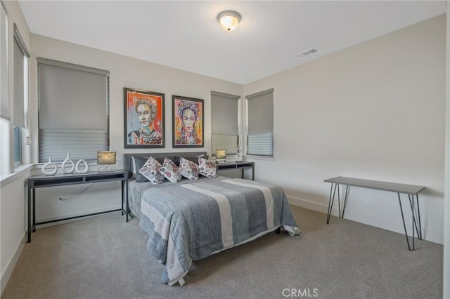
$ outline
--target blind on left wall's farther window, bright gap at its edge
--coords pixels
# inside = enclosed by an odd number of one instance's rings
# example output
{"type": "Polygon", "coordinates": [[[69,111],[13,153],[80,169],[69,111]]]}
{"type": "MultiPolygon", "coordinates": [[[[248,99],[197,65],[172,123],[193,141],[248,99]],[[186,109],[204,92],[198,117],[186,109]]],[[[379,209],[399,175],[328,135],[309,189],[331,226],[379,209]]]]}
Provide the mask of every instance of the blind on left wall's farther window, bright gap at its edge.
{"type": "Polygon", "coordinates": [[[28,61],[30,52],[20,36],[17,26],[14,24],[14,125],[20,128],[26,127],[25,101],[28,100],[28,61]]]}

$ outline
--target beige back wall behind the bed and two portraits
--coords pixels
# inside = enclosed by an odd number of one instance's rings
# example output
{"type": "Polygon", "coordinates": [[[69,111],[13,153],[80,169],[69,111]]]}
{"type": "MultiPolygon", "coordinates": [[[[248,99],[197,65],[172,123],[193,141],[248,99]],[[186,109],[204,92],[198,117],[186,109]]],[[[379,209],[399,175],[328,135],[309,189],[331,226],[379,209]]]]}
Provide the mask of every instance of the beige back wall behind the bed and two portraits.
{"type": "MultiPolygon", "coordinates": [[[[211,147],[211,119],[210,98],[211,91],[242,95],[243,86],[219,79],[205,77],[179,69],[172,69],[150,62],[143,62],[122,55],[116,55],[94,48],[87,48],[65,41],[50,39],[37,34],[31,35],[32,58],[30,60],[30,109],[32,111],[32,137],[37,140],[37,62],[36,58],[49,58],[63,62],[85,65],[110,71],[110,138],[111,150],[117,151],[117,166],[122,168],[122,154],[124,150],[124,98],[123,88],[138,88],[147,91],[165,93],[165,149],[135,150],[131,152],[180,152],[172,148],[172,95],[184,95],[191,98],[205,100],[205,147],[191,148],[186,151],[210,151],[211,147]]],[[[33,144],[33,161],[38,161],[38,144],[33,144]]],[[[34,170],[39,173],[39,169],[34,170]]],[[[58,197],[70,197],[82,191],[85,185],[70,187],[42,188],[37,190],[39,205],[36,218],[38,221],[95,213],[111,208],[120,208],[119,182],[94,185],[82,196],[58,204],[58,197]]]]}

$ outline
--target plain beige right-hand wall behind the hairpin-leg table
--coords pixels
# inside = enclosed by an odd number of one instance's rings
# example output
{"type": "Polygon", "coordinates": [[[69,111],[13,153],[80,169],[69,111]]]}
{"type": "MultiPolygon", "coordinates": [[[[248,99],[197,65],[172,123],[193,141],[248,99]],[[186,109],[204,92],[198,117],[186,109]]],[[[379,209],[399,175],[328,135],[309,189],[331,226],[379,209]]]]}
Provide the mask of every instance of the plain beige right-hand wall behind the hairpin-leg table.
{"type": "MultiPolygon", "coordinates": [[[[445,28],[440,15],[245,85],[274,88],[275,159],[255,160],[257,180],[324,213],[326,178],[426,186],[424,237],[442,244],[445,28]]],[[[404,233],[394,193],[352,187],[345,216],[404,233]]]]}

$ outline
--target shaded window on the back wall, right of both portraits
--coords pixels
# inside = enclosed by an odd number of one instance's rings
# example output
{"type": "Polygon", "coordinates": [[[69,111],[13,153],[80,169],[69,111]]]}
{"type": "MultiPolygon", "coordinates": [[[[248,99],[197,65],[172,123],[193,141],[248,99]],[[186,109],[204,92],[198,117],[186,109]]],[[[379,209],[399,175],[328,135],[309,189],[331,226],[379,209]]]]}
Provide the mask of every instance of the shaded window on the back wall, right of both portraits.
{"type": "Polygon", "coordinates": [[[240,97],[211,91],[211,155],[236,154],[239,142],[240,97]]]}

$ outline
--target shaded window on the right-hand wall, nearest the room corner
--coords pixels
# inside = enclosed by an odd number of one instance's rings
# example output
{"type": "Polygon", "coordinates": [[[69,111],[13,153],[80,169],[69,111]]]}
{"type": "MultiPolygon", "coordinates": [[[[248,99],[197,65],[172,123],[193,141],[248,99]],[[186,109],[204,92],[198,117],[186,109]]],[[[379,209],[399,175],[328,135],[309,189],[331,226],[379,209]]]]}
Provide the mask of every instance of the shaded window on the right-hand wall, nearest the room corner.
{"type": "Polygon", "coordinates": [[[274,157],[274,89],[246,99],[247,154],[274,157]]]}

